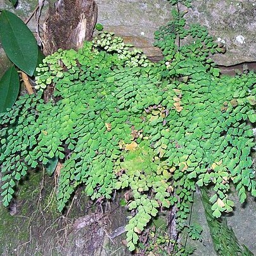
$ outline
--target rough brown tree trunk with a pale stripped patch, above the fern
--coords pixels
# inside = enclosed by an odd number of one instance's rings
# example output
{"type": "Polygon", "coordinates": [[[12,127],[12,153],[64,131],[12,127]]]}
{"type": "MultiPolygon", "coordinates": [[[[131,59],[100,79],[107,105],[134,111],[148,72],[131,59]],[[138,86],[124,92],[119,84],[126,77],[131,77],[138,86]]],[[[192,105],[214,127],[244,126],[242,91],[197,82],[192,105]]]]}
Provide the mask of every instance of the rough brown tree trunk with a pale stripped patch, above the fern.
{"type": "MultiPolygon", "coordinates": [[[[47,56],[58,49],[79,49],[93,36],[98,8],[94,0],[58,0],[49,6],[43,25],[42,46],[47,56]]],[[[53,95],[54,86],[44,92],[44,101],[53,95]]]]}

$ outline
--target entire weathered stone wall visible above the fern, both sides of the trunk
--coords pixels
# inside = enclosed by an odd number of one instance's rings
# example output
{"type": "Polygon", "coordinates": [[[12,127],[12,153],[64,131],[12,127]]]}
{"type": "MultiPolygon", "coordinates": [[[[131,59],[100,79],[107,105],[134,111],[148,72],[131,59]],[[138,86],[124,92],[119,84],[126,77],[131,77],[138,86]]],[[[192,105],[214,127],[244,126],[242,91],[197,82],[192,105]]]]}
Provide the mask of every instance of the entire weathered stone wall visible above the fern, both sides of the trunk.
{"type": "MultiPolygon", "coordinates": [[[[14,10],[9,0],[0,0],[0,9],[14,11],[25,21],[37,3],[37,0],[18,0],[14,10]]],[[[167,0],[96,0],[96,3],[98,22],[104,25],[105,30],[121,35],[125,42],[143,49],[150,58],[161,58],[161,51],[153,47],[153,34],[171,18],[171,6],[167,0]]],[[[218,65],[256,61],[256,1],[194,0],[192,6],[186,14],[188,23],[207,26],[210,34],[227,48],[226,54],[214,56],[218,65]]],[[[48,2],[45,1],[41,23],[46,18],[47,8],[48,2]]],[[[34,17],[29,27],[35,32],[37,22],[34,17]]],[[[3,61],[3,51],[0,50],[0,75],[4,69],[2,66],[6,66],[3,61]]]]}

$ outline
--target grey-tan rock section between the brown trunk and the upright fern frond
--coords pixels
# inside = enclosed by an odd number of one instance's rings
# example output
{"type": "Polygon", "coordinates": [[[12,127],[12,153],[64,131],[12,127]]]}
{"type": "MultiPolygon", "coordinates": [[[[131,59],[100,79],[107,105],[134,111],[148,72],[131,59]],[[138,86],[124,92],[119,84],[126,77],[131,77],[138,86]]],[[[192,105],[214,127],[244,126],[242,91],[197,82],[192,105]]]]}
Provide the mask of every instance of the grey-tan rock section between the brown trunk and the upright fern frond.
{"type": "Polygon", "coordinates": [[[115,32],[148,56],[161,58],[161,51],[153,47],[153,42],[154,32],[170,20],[170,4],[166,0],[96,0],[96,3],[98,22],[105,30],[115,32]]]}

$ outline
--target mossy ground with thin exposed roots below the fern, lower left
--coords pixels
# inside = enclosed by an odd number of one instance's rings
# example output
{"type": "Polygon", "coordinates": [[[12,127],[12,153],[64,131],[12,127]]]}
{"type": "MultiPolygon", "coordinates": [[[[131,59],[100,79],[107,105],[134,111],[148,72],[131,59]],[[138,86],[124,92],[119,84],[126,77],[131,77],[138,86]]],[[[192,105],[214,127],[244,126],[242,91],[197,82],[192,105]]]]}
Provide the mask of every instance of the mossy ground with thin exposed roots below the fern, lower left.
{"type": "Polygon", "coordinates": [[[112,241],[108,238],[124,226],[124,208],[115,202],[87,202],[78,191],[61,215],[54,179],[42,177],[42,172],[32,174],[11,207],[0,207],[0,255],[129,255],[122,243],[124,234],[112,241]]]}

